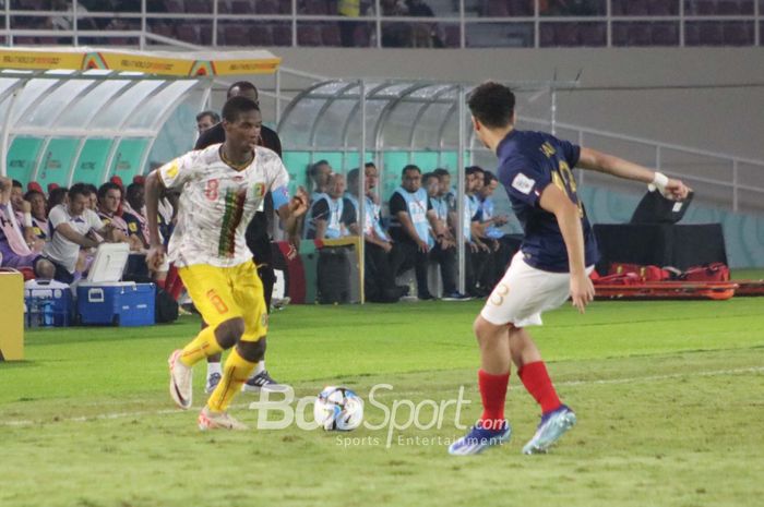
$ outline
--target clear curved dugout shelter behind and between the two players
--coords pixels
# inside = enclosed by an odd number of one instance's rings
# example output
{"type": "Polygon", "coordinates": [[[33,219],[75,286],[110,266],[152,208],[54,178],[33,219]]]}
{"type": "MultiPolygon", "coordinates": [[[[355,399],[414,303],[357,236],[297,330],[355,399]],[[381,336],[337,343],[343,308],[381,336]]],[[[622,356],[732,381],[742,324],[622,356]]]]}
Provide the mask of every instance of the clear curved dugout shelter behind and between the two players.
{"type": "MultiPolygon", "coordinates": [[[[518,126],[552,133],[558,93],[577,86],[576,81],[505,84],[517,97],[518,126]]],[[[307,184],[307,169],[318,160],[325,159],[345,173],[359,167],[359,160],[373,161],[380,169],[381,202],[386,204],[407,164],[419,166],[422,172],[444,168],[458,193],[457,216],[464,217],[464,171],[458,168],[496,168],[496,157],[471,129],[466,97],[475,86],[399,80],[333,80],[310,86],[287,105],[278,123],[293,184],[307,184]]],[[[360,178],[359,195],[362,184],[360,178]]],[[[498,204],[506,201],[501,192],[494,195],[498,204]]],[[[358,222],[363,224],[363,200],[360,204],[358,222]]],[[[457,234],[461,240],[462,228],[457,234]]],[[[458,270],[459,290],[464,291],[464,241],[459,241],[458,270]]]]}

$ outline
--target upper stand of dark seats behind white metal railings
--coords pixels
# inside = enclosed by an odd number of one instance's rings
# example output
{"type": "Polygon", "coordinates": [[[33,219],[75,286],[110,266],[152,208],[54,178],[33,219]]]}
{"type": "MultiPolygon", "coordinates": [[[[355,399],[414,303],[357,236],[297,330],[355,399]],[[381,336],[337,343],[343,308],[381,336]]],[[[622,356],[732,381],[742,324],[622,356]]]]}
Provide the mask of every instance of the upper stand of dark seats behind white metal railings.
{"type": "Polygon", "coordinates": [[[761,46],[764,27],[764,0],[373,0],[361,2],[354,16],[342,15],[337,5],[337,0],[142,0],[139,8],[108,0],[8,0],[0,11],[0,44],[761,46]]]}

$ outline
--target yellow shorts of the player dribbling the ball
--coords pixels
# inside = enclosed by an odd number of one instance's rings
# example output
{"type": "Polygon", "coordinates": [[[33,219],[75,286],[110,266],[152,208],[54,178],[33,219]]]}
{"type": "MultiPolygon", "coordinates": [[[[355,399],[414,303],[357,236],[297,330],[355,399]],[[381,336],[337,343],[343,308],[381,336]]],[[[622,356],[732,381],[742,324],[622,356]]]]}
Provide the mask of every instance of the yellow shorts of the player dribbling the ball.
{"type": "Polygon", "coordinates": [[[178,275],[207,325],[217,327],[231,318],[244,319],[243,341],[258,341],[267,334],[263,282],[252,261],[234,267],[195,264],[178,275]]]}

